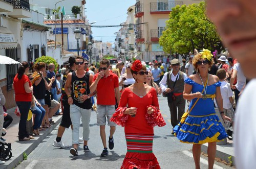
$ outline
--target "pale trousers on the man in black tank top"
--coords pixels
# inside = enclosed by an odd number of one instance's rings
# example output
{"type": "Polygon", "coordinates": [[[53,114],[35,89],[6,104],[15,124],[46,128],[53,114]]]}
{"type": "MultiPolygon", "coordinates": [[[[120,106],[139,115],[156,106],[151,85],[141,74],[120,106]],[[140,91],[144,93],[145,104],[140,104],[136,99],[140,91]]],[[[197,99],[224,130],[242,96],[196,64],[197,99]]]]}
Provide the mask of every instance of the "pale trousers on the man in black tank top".
{"type": "Polygon", "coordinates": [[[70,105],[70,118],[73,125],[72,144],[78,144],[80,119],[82,117],[83,140],[89,140],[91,109],[82,109],[76,105],[70,105]]]}

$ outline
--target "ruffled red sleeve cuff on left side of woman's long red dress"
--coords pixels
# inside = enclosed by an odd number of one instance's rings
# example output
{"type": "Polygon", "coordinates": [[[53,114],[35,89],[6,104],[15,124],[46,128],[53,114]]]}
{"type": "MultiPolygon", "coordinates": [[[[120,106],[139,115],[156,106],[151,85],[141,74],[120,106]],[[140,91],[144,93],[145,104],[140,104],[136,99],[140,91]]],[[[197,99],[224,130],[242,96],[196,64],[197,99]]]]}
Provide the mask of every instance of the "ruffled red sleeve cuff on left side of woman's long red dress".
{"type": "Polygon", "coordinates": [[[126,120],[128,119],[128,114],[123,114],[126,109],[127,107],[118,107],[116,109],[116,112],[110,118],[110,121],[124,127],[126,124],[126,120]]]}

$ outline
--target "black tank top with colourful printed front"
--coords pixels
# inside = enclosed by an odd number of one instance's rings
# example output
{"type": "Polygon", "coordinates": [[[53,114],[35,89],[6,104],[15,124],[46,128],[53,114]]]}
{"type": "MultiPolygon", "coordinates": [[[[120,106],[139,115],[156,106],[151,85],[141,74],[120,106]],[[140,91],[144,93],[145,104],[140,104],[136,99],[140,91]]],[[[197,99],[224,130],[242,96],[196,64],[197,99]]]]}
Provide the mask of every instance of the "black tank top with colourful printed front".
{"type": "Polygon", "coordinates": [[[86,75],[82,78],[78,78],[76,76],[76,72],[72,72],[71,79],[71,96],[73,98],[74,105],[82,108],[82,109],[91,109],[91,99],[87,99],[84,102],[79,100],[79,95],[90,93],[90,85],[89,85],[90,74],[86,72],[86,75]]]}

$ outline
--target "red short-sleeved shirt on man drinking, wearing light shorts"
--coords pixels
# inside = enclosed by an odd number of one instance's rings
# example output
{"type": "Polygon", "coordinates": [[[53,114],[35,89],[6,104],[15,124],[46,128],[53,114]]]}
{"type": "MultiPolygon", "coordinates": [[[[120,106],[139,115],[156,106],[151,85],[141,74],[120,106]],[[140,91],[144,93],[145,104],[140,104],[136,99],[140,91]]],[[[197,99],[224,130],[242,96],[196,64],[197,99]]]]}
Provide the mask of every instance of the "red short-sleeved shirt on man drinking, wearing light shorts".
{"type": "MultiPolygon", "coordinates": [[[[94,75],[93,82],[97,79],[99,73],[94,75]]],[[[98,105],[115,105],[115,88],[119,87],[118,77],[110,71],[108,77],[103,77],[97,85],[97,104],[98,105]]]]}

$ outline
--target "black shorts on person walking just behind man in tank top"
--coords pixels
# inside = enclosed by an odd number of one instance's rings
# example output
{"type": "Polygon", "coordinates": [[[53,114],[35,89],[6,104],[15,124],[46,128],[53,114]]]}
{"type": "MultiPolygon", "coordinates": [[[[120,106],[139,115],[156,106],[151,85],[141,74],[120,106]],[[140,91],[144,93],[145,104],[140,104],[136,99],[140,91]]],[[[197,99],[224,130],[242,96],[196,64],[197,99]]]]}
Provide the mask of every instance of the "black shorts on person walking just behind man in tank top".
{"type": "Polygon", "coordinates": [[[70,105],[68,103],[68,96],[65,94],[62,96],[63,114],[59,126],[69,128],[72,125],[70,118],[70,105]]]}

